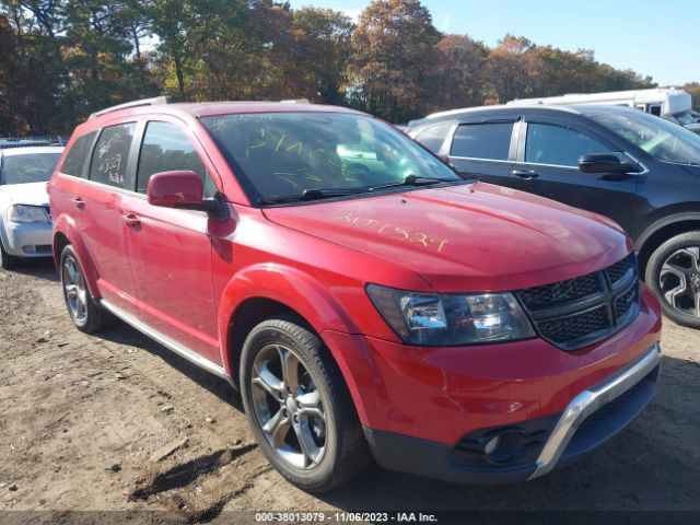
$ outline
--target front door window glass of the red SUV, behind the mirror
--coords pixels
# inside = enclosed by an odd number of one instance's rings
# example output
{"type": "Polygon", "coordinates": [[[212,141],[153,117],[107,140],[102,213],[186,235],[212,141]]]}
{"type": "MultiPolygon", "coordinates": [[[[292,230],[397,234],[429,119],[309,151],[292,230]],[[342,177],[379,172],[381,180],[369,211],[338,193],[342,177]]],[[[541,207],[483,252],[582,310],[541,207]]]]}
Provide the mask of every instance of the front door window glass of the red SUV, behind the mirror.
{"type": "Polygon", "coordinates": [[[145,194],[151,175],[173,171],[190,171],[202,177],[205,197],[213,197],[217,192],[211,176],[187,136],[173,124],[151,121],[141,144],[137,191],[145,194]]]}

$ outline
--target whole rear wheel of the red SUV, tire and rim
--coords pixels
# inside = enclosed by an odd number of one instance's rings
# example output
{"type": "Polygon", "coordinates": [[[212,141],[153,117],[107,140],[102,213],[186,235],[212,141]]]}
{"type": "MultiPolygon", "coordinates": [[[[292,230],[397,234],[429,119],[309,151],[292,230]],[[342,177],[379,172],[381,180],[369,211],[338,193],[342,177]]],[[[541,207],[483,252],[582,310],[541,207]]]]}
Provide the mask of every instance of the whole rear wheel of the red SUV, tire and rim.
{"type": "Polygon", "coordinates": [[[75,328],[93,334],[113,324],[113,315],[90,294],[83,267],[70,244],[61,252],[60,277],[66,306],[75,328]]]}

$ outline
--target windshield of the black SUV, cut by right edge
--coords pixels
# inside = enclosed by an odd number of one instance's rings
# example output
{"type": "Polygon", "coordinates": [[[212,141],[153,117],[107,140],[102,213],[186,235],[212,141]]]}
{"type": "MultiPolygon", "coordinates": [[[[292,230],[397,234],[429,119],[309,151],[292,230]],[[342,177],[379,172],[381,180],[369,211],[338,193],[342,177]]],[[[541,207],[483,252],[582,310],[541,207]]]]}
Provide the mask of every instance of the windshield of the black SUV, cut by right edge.
{"type": "Polygon", "coordinates": [[[700,164],[700,136],[682,126],[644,113],[598,114],[591,118],[660,161],[700,164]]]}

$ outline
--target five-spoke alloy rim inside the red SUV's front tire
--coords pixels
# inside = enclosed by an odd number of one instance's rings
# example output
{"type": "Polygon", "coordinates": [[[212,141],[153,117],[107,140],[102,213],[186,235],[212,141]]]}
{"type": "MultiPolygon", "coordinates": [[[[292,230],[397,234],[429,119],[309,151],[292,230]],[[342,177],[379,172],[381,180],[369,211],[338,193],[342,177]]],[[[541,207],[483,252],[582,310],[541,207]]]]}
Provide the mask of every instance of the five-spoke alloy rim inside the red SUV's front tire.
{"type": "Polygon", "coordinates": [[[295,468],[317,466],[326,450],[326,415],[299,355],[282,345],[261,348],[250,392],[255,416],[276,454],[295,468]]]}

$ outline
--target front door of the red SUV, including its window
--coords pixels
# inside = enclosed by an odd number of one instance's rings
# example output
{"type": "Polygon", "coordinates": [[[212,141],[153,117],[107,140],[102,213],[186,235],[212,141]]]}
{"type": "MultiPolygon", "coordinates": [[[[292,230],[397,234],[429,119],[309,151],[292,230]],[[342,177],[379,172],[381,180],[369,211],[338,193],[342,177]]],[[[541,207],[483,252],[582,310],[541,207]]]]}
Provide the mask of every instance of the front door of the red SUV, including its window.
{"type": "Polygon", "coordinates": [[[209,217],[202,211],[149,205],[149,178],[160,172],[192,171],[205,197],[217,191],[208,161],[179,120],[159,117],[142,124],[136,168],[137,192],[121,203],[126,238],[137,283],[141,320],[160,334],[220,364],[212,289],[209,217]]]}

